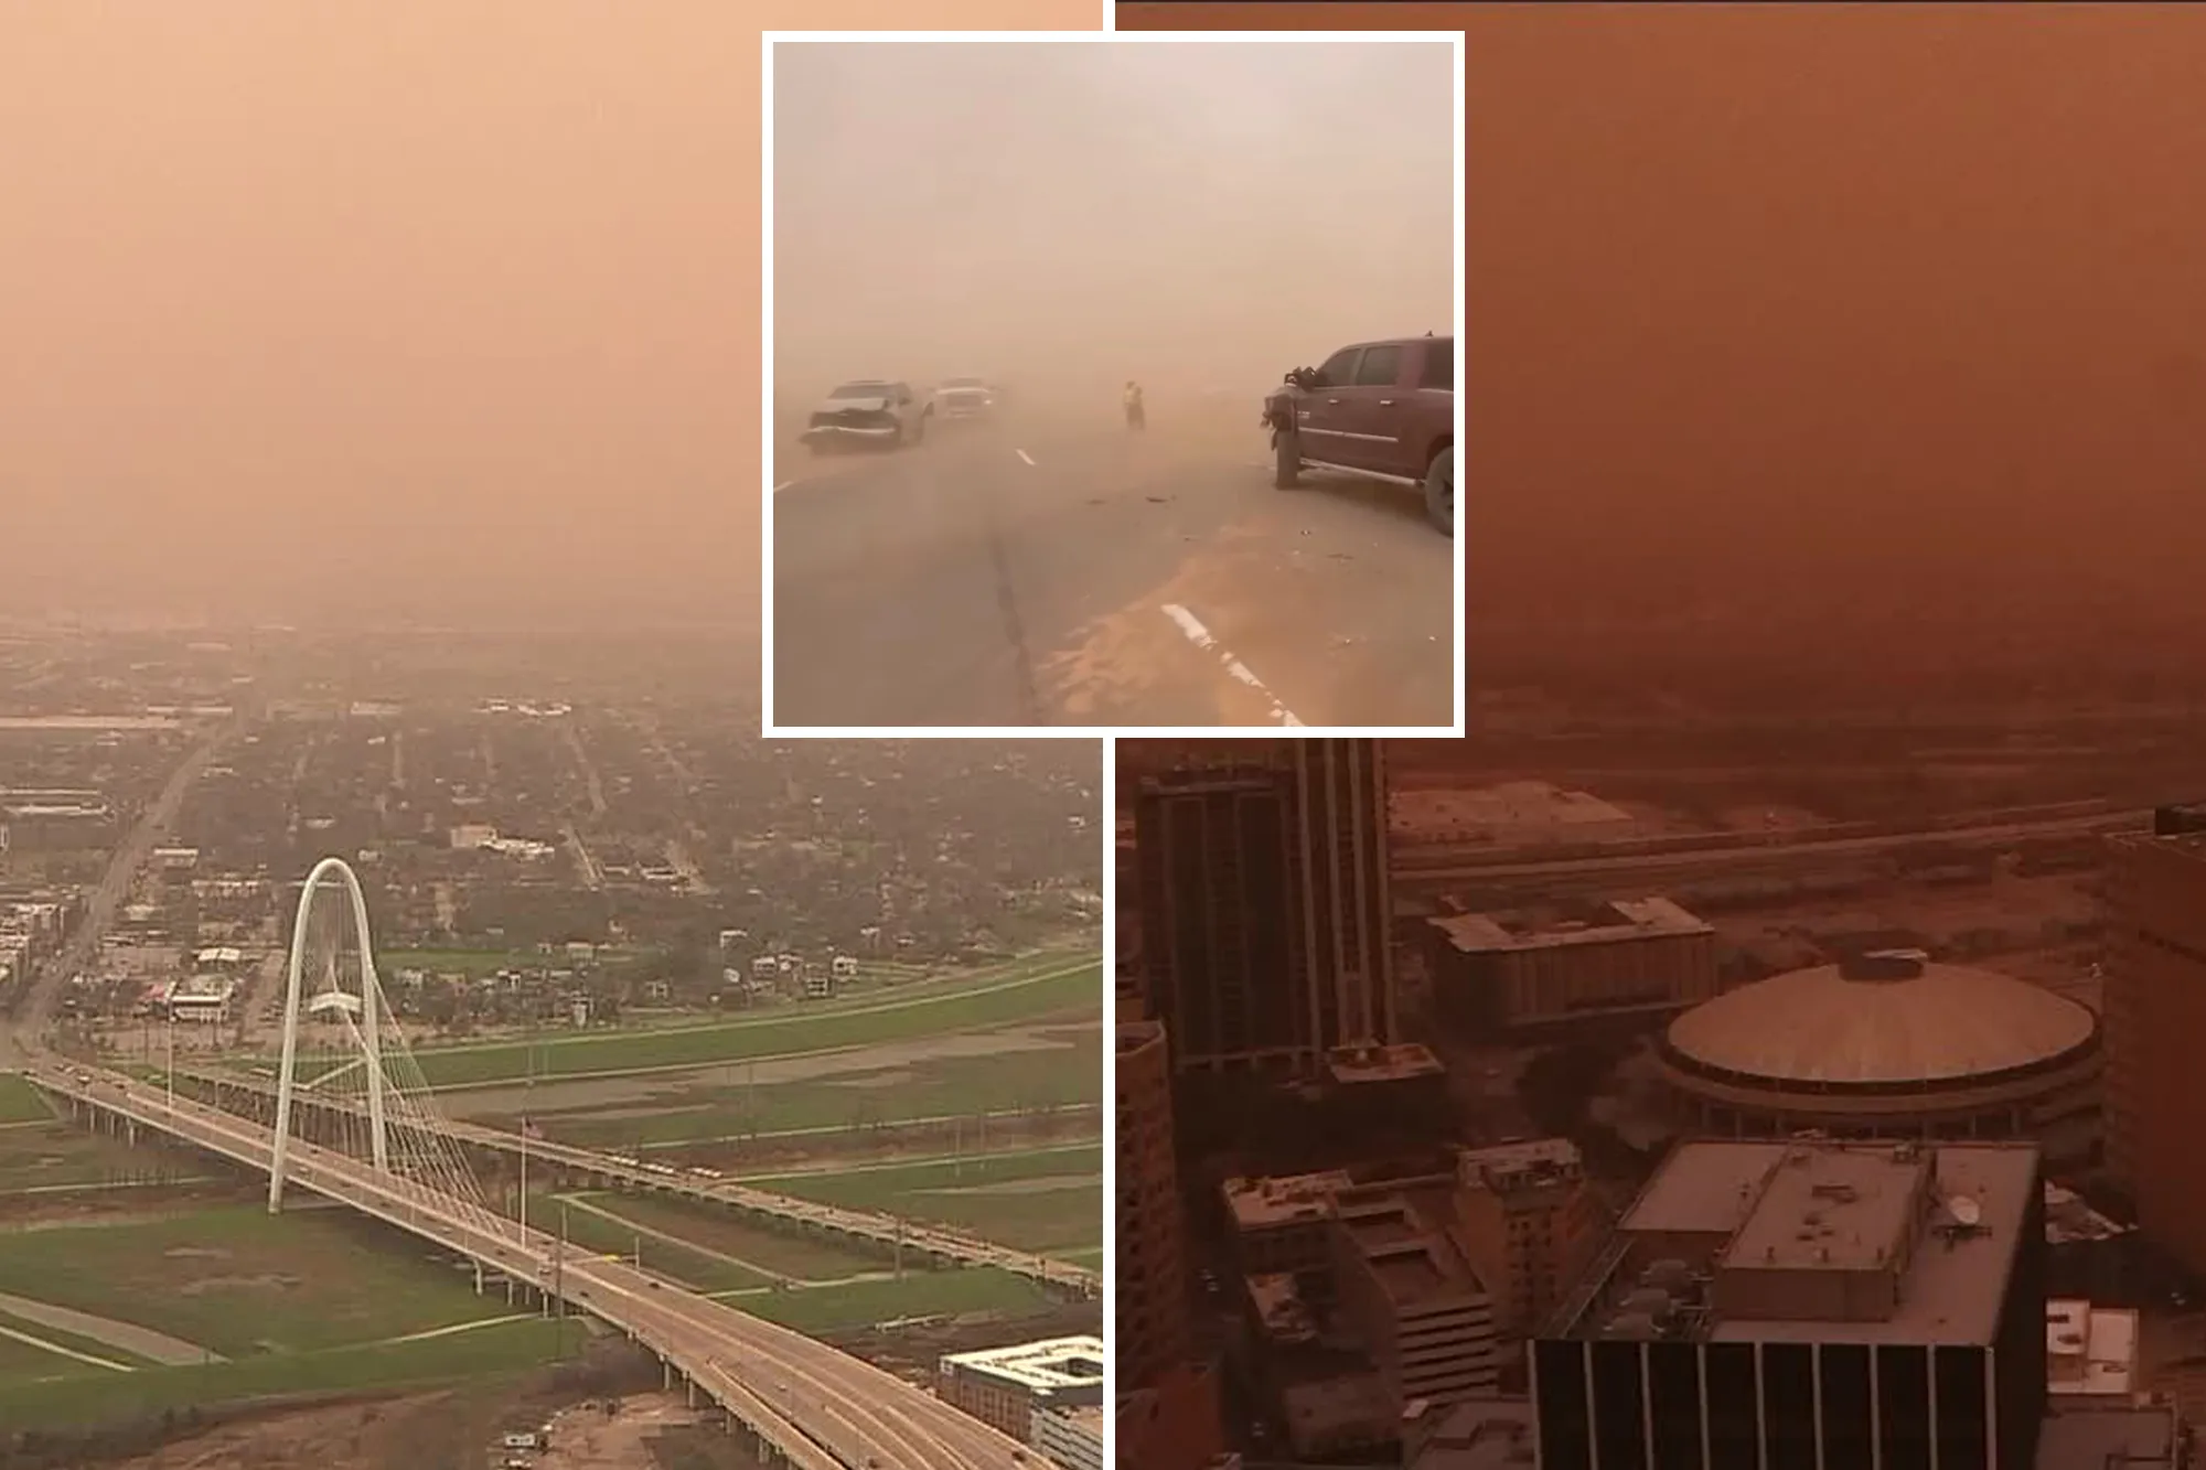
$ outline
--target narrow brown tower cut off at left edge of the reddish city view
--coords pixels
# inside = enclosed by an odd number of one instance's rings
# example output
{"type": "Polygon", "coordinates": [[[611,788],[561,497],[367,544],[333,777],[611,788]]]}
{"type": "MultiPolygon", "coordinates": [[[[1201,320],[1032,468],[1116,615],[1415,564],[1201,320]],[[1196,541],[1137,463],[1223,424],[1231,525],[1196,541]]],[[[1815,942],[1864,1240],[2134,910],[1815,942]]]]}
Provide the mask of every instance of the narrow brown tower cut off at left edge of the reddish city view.
{"type": "Polygon", "coordinates": [[[1178,1165],[1171,1152],[1171,1059],[1154,1020],[1118,1020],[1118,1232],[1112,1278],[1116,1386],[1152,1388],[1191,1353],[1178,1165]]]}

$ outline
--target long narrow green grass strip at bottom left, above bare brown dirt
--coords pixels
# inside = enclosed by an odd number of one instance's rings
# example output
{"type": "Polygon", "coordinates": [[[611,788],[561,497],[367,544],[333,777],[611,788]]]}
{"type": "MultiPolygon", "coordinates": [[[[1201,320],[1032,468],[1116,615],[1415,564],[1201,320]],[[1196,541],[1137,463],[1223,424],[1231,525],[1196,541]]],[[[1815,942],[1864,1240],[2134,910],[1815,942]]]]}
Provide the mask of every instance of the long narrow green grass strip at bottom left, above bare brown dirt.
{"type": "MultiPolygon", "coordinates": [[[[0,1382],[0,1424],[9,1428],[90,1428],[163,1410],[205,1408],[238,1399],[291,1393],[439,1386],[521,1373],[563,1351],[580,1349],[589,1327],[580,1318],[554,1322],[521,1318],[419,1342],[271,1353],[238,1362],[99,1373],[60,1382],[0,1382]]],[[[79,1364],[84,1366],[84,1364],[79,1364]]]]}

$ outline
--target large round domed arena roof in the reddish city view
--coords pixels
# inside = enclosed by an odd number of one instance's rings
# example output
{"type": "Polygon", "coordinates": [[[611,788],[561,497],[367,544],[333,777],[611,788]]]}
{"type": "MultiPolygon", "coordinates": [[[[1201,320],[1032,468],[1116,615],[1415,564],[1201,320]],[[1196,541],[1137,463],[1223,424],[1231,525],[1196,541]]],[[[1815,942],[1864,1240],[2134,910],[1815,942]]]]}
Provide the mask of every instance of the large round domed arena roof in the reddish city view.
{"type": "Polygon", "coordinates": [[[2089,1046],[2098,1018],[2065,995],[1913,951],[1745,984],[1670,1022],[1696,1068],[1793,1088],[1955,1084],[2089,1046]]]}

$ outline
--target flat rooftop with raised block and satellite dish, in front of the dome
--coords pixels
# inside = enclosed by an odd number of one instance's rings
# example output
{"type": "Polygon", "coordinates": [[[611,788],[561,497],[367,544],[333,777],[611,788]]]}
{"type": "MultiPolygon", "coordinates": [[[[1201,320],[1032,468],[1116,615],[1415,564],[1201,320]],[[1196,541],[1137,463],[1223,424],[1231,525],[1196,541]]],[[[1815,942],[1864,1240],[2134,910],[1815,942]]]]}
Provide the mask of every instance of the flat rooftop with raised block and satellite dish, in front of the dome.
{"type": "Polygon", "coordinates": [[[1983,1344],[2038,1190],[2034,1143],[1692,1139],[1551,1331],[1983,1344]]]}

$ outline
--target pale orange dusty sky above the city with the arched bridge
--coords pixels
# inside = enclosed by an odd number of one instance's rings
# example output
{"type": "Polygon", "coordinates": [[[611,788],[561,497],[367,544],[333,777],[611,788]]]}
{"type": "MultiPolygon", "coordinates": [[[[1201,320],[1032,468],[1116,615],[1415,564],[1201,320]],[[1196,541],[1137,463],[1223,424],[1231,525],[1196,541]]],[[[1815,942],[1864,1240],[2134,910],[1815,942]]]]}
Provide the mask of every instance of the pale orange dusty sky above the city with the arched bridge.
{"type": "Polygon", "coordinates": [[[704,0],[7,7],[0,611],[750,620],[754,68],[704,0]]]}

